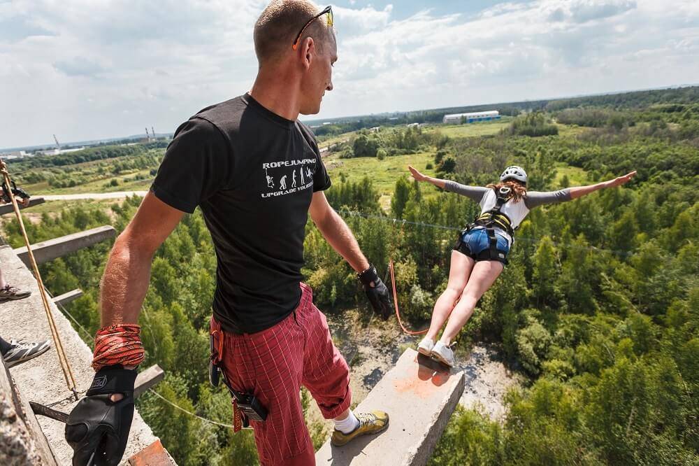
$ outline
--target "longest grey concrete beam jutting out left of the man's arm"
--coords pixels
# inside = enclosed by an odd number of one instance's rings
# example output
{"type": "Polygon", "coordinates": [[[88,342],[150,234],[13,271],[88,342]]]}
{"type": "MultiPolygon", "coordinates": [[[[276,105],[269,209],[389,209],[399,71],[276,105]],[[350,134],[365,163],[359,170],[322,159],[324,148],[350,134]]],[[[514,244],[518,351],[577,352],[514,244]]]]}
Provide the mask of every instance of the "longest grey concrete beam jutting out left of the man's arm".
{"type": "MultiPolygon", "coordinates": [[[[85,232],[66,234],[66,236],[61,236],[60,238],[49,239],[48,241],[41,241],[41,243],[32,244],[31,250],[34,252],[34,259],[36,259],[36,263],[43,264],[44,262],[54,260],[57,257],[74,253],[76,250],[92,246],[100,241],[113,238],[116,236],[116,234],[117,231],[114,230],[114,227],[111,225],[105,225],[103,227],[93,228],[92,230],[86,230],[85,232]]],[[[17,257],[19,257],[20,260],[27,265],[27,267],[31,267],[29,262],[29,253],[27,253],[27,246],[17,248],[14,252],[17,257]]]]}

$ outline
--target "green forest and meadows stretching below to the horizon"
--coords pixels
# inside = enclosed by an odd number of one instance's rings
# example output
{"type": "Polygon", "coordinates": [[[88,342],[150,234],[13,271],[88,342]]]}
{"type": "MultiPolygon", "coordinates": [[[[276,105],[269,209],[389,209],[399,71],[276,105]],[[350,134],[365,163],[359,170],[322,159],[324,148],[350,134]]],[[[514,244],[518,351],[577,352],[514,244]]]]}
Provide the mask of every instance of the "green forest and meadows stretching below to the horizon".
{"type": "MultiPolygon", "coordinates": [[[[78,180],[100,176],[100,167],[107,176],[122,164],[116,178],[157,169],[162,148],[128,147],[136,148],[99,148],[71,154],[75,158],[65,163],[17,162],[10,170],[27,188],[36,188],[71,177],[79,187],[78,180]]],[[[333,150],[333,163],[363,157],[382,164],[414,154],[421,157],[419,169],[472,185],[496,181],[507,164],[519,164],[530,174],[531,190],[637,170],[624,188],[537,209],[521,225],[510,264],[481,299],[458,346],[463,355],[475,342],[498,348],[524,383],[507,393],[503,421],[459,408],[430,464],[699,463],[698,88],[545,101],[484,136],[447,136],[438,125],[364,130],[333,150]]],[[[405,170],[396,174],[390,202],[382,205],[373,174],[350,180],[343,170],[329,169],[331,205],[380,276],[394,260],[403,316],[412,327],[426,325],[446,287],[456,234],[478,213],[477,204],[418,185],[405,170]]],[[[131,197],[45,209],[25,225],[34,242],[107,223],[121,231],[139,202],[131,197]]],[[[307,232],[303,273],[315,304],[331,315],[357,308],[370,313],[352,269],[310,220],[307,232]]],[[[11,246],[21,245],[14,221],[3,224],[3,236],[11,246]]],[[[85,290],[66,311],[90,345],[99,326],[99,277],[109,249],[104,243],[81,250],[41,270],[54,294],[85,290]]],[[[215,267],[197,210],[154,258],[140,318],[143,367],[157,363],[165,369],[166,380],[157,386],[161,397],[230,424],[229,395],[211,388],[206,374],[215,267]]],[[[307,409],[310,396],[305,390],[300,396],[307,409]]],[[[233,435],[151,393],[137,405],[178,464],[257,462],[251,432],[233,435]]],[[[328,432],[311,421],[309,429],[318,447],[328,432]]]]}

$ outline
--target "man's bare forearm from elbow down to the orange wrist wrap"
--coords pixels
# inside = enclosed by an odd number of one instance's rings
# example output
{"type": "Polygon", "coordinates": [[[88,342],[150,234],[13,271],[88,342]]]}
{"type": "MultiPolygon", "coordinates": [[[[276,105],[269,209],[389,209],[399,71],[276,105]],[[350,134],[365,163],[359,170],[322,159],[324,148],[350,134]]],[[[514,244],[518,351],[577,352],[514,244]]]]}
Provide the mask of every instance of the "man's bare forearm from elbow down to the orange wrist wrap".
{"type": "Polygon", "coordinates": [[[101,325],[137,323],[150,281],[152,253],[118,238],[100,287],[101,325]]]}

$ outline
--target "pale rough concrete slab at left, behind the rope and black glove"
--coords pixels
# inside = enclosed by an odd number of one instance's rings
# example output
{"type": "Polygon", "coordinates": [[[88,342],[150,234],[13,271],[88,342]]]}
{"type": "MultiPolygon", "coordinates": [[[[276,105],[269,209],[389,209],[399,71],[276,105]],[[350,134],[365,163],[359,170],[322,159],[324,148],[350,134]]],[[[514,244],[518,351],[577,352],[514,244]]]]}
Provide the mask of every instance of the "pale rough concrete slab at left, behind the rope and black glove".
{"type": "MultiPolygon", "coordinates": [[[[0,303],[0,335],[6,340],[36,341],[46,339],[51,341],[51,332],[34,276],[27,267],[24,267],[22,261],[9,246],[0,247],[0,267],[2,267],[8,283],[31,290],[30,297],[0,303]]],[[[90,367],[92,351],[80,339],[78,333],[71,327],[69,320],[57,309],[56,305],[51,302],[50,307],[66,355],[68,355],[73,367],[79,395],[82,396],[89,388],[94,376],[92,367],[90,367]]],[[[75,406],[75,401],[66,387],[56,350],[53,344],[51,346],[49,351],[38,358],[10,369],[10,374],[15,379],[20,395],[28,398],[29,401],[45,404],[59,411],[70,412],[75,406]]],[[[65,425],[43,416],[38,416],[38,422],[59,465],[71,465],[73,450],[64,439],[65,425]]],[[[133,456],[156,440],[157,437],[143,422],[143,418],[137,411],[131,425],[129,443],[127,451],[124,453],[122,465],[128,464],[126,458],[133,456]]]]}

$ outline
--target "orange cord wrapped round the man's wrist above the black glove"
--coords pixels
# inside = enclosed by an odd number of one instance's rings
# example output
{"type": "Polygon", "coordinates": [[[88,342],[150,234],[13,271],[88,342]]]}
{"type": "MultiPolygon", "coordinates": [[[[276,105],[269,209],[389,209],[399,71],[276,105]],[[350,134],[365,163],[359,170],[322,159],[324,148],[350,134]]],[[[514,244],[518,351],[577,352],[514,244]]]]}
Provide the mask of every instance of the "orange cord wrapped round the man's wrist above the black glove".
{"type": "Polygon", "coordinates": [[[137,324],[109,325],[99,329],[94,338],[94,370],[113,365],[137,366],[143,362],[145,350],[139,334],[140,325],[137,324]]]}

